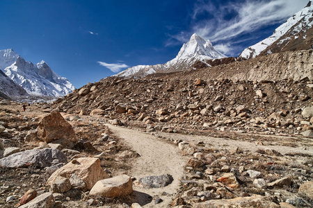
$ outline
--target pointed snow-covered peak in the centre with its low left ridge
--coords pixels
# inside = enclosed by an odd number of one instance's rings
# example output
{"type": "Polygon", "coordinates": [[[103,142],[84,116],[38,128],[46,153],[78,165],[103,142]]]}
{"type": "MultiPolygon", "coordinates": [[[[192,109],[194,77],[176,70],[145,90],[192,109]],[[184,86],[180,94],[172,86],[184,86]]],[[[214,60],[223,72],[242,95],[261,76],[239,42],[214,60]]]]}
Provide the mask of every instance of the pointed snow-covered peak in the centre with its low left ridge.
{"type": "MultiPolygon", "coordinates": [[[[151,73],[166,73],[173,71],[184,71],[190,69],[190,67],[196,61],[212,60],[216,58],[225,58],[226,56],[216,51],[209,42],[209,40],[203,40],[202,37],[197,34],[193,34],[189,42],[182,46],[176,58],[166,62],[165,64],[157,65],[138,65],[131,67],[125,71],[121,71],[115,76],[120,77],[144,77],[151,73]]],[[[209,67],[209,65],[208,65],[209,67]]]]}

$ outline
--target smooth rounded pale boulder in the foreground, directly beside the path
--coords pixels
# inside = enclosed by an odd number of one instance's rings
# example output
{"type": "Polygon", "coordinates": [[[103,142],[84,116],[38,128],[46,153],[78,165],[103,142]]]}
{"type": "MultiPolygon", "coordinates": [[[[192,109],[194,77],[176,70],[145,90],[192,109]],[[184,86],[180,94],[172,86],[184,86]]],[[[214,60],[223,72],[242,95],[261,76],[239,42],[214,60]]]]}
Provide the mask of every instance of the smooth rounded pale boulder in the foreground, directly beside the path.
{"type": "Polygon", "coordinates": [[[93,189],[90,190],[90,196],[118,197],[128,196],[133,192],[133,182],[128,175],[120,175],[104,180],[99,180],[93,189]]]}

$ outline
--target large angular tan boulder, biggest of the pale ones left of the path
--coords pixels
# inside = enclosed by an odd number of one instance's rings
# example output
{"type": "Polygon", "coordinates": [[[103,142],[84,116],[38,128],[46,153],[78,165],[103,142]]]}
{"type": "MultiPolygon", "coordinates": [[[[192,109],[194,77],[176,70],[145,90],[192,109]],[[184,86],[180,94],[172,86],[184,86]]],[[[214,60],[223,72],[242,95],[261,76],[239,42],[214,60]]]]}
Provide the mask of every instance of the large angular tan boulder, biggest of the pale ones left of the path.
{"type": "Polygon", "coordinates": [[[98,180],[109,178],[101,165],[100,160],[93,157],[80,157],[73,159],[62,168],[58,169],[47,180],[47,186],[51,186],[58,176],[70,179],[72,174],[77,175],[86,184],[86,189],[93,188],[98,180]]]}

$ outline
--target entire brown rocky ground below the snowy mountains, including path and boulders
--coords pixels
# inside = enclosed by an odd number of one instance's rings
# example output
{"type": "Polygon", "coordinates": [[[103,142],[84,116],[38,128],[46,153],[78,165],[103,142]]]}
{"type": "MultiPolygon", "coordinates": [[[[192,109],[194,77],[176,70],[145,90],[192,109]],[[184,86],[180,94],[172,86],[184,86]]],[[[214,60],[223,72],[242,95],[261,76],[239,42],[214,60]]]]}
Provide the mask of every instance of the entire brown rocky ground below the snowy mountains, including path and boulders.
{"type": "MultiPolygon", "coordinates": [[[[299,53],[280,58],[312,67],[299,53]]],[[[0,206],[312,207],[312,68],[230,76],[269,62],[106,78],[25,112],[1,100],[0,206]]]]}

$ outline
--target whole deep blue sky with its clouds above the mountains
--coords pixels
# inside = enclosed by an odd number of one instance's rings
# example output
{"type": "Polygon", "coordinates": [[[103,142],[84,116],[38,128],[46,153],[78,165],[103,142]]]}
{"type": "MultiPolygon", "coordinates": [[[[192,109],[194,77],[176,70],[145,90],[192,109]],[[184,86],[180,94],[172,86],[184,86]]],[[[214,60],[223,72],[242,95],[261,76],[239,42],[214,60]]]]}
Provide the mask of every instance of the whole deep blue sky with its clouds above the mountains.
{"type": "Polygon", "coordinates": [[[175,58],[193,33],[228,56],[270,36],[308,0],[0,0],[0,49],[45,60],[77,88],[175,58]]]}

